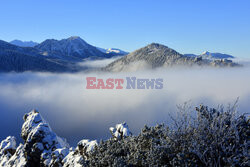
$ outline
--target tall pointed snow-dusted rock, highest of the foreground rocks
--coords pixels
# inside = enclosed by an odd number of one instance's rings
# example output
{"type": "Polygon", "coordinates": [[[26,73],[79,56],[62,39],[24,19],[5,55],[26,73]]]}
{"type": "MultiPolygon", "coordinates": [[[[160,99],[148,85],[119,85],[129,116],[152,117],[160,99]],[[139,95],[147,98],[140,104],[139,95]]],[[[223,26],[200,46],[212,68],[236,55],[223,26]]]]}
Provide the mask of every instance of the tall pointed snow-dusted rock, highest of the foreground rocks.
{"type": "Polygon", "coordinates": [[[36,110],[25,114],[24,120],[21,136],[28,166],[48,166],[58,149],[69,149],[65,139],[58,137],[36,110]]]}

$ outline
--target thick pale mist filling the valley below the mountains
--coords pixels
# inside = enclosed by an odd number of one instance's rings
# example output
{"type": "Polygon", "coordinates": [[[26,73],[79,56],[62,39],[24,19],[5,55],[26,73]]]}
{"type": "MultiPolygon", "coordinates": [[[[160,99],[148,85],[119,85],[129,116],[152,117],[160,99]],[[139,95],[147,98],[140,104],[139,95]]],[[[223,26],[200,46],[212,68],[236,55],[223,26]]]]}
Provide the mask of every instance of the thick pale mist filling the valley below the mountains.
{"type": "MultiPolygon", "coordinates": [[[[104,60],[107,64],[108,60],[104,60]]],[[[103,64],[103,65],[104,65],[103,64]]],[[[84,65],[101,67],[100,62],[84,65]]],[[[106,139],[108,128],[126,121],[135,134],[147,125],[169,123],[176,105],[227,106],[239,97],[238,110],[250,109],[250,68],[157,69],[131,73],[0,74],[0,140],[19,137],[22,116],[37,109],[51,128],[70,144],[81,139],[106,139]],[[163,89],[90,90],[86,77],[163,78],[163,89]]],[[[19,138],[19,141],[20,138],[19,138]]]]}

